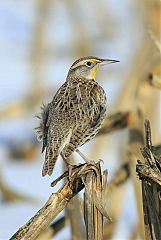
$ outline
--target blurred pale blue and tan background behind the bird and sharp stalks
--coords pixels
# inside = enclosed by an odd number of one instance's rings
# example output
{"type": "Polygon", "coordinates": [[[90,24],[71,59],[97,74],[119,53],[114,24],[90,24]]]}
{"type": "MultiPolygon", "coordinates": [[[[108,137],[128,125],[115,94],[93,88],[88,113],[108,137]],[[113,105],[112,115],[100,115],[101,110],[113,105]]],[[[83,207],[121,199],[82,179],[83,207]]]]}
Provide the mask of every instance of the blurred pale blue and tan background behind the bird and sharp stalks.
{"type": "MultiPolygon", "coordinates": [[[[142,132],[148,118],[153,142],[161,142],[160,93],[149,84],[160,78],[160,7],[159,0],[0,2],[0,239],[9,239],[60,187],[53,190],[50,183],[63,171],[61,158],[53,176],[41,177],[44,156],[34,116],[77,58],[120,60],[97,79],[108,96],[108,115],[130,112],[128,127],[82,147],[86,155],[104,160],[109,180],[129,161],[129,152],[140,157],[140,145],[130,142],[132,128],[142,132]]],[[[127,179],[109,196],[115,227],[105,239],[140,239],[136,186],[134,178],[127,179]]],[[[70,232],[67,224],[53,239],[71,239],[70,232]]]]}

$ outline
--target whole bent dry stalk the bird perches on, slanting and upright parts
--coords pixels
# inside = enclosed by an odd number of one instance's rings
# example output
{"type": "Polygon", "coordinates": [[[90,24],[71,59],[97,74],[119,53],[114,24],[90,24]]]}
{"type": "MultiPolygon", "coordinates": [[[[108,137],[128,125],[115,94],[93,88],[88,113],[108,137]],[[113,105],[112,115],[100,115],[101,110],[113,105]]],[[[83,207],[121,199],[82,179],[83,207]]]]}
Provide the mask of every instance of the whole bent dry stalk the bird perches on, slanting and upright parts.
{"type": "MultiPolygon", "coordinates": [[[[68,172],[65,172],[56,179],[51,186],[60,181],[63,177],[68,176],[68,172]]],[[[107,174],[105,175],[107,176],[107,174]]],[[[86,186],[87,197],[91,198],[93,202],[93,215],[85,215],[86,223],[93,222],[93,226],[88,227],[87,236],[91,236],[94,232],[95,238],[88,238],[91,240],[101,240],[103,233],[103,215],[108,219],[105,209],[102,206],[102,185],[101,185],[101,171],[99,163],[93,164],[82,164],[79,166],[73,166],[70,181],[66,180],[64,185],[59,189],[58,192],[53,193],[46,204],[32,217],[23,227],[21,227],[10,240],[34,240],[48,227],[53,219],[67,206],[69,201],[79,192],[84,186],[86,186]],[[90,188],[91,178],[93,176],[93,187],[90,188]],[[83,182],[82,180],[83,179],[83,182]],[[88,182],[89,181],[89,182],[88,182]],[[91,192],[92,193],[91,193],[91,192]],[[96,196],[96,193],[98,195],[96,196]],[[96,198],[97,197],[97,198],[96,198]],[[91,218],[92,217],[92,218],[91,218]],[[89,232],[90,231],[90,232],[89,232]]],[[[107,184],[106,184],[107,186],[107,184]]],[[[105,187],[104,187],[105,188],[105,187]]],[[[105,191],[105,190],[104,190],[105,191]]],[[[88,206],[88,205],[86,205],[88,206]]],[[[87,213],[87,211],[86,211],[87,213]]]]}

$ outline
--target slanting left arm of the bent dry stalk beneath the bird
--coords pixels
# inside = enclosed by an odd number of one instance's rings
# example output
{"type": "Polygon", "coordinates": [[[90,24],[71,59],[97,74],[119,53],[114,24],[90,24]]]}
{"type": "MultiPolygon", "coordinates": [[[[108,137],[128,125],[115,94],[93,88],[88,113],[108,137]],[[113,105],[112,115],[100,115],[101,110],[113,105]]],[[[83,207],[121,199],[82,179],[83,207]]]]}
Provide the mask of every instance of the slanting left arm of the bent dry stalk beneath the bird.
{"type": "Polygon", "coordinates": [[[69,201],[83,189],[84,185],[77,174],[83,166],[72,170],[72,182],[68,179],[58,192],[53,193],[46,204],[21,227],[10,240],[33,240],[47,228],[53,219],[65,208],[69,201]]]}

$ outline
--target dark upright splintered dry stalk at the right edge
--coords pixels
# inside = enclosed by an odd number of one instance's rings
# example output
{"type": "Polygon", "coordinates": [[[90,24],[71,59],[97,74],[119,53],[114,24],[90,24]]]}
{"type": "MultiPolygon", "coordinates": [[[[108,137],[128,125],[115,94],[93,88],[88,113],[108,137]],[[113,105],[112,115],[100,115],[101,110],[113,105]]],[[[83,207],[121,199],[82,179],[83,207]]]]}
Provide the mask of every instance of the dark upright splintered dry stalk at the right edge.
{"type": "Polygon", "coordinates": [[[149,121],[145,122],[146,146],[142,149],[145,163],[138,161],[136,171],[142,182],[145,238],[161,239],[161,156],[153,152],[149,121]]]}

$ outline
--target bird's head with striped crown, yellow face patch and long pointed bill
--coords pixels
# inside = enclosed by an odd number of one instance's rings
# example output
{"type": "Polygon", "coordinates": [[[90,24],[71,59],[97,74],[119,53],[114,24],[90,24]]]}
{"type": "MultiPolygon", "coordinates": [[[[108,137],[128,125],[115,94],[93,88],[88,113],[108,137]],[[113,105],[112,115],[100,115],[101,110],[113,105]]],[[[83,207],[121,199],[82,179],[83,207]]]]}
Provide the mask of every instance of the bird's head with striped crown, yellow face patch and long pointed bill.
{"type": "Polygon", "coordinates": [[[97,57],[83,57],[75,61],[69,69],[67,78],[96,78],[101,66],[119,62],[117,60],[101,59],[97,57]]]}

